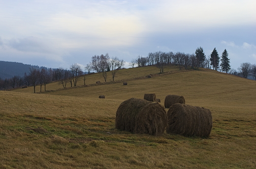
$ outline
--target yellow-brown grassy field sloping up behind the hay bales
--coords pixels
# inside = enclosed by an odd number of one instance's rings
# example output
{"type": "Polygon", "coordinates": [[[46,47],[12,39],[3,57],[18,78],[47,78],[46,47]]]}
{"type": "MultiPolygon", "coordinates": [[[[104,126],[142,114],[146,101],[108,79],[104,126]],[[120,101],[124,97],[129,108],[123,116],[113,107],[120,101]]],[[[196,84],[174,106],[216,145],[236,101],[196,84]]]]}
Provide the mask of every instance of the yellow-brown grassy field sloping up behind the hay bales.
{"type": "Polygon", "coordinates": [[[103,81],[95,73],[87,76],[87,86],[82,79],[69,89],[53,82],[40,94],[32,94],[31,87],[0,91],[0,168],[256,168],[256,81],[204,69],[158,72],[156,67],[120,70],[115,83],[109,74],[101,85],[95,85],[103,81]],[[155,93],[162,105],[166,95],[174,94],[210,109],[210,137],[115,129],[120,103],[145,93],[155,93]]]}

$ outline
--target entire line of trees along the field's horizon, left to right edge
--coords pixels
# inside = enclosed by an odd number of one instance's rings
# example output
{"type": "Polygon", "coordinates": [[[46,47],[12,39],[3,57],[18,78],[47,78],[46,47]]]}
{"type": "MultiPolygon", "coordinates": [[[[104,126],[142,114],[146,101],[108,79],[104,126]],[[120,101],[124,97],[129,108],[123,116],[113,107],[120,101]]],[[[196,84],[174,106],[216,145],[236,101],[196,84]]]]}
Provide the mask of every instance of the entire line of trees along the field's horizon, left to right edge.
{"type": "MultiPolygon", "coordinates": [[[[123,69],[125,61],[119,59],[118,57],[110,58],[108,53],[105,55],[94,55],[89,64],[85,66],[85,71],[91,73],[91,71],[102,73],[104,81],[107,81],[107,72],[111,72],[111,79],[114,81],[116,73],[118,70],[123,69]]],[[[205,56],[203,48],[196,48],[194,54],[183,53],[183,52],[150,52],[148,56],[142,57],[138,56],[129,62],[129,66],[134,68],[144,67],[144,66],[156,66],[159,68],[160,73],[164,72],[167,66],[176,65],[181,69],[195,69],[195,68],[207,68],[213,70],[220,70],[222,72],[238,75],[244,78],[248,78],[249,75],[253,76],[256,80],[256,65],[250,63],[242,63],[238,68],[240,72],[231,69],[230,59],[228,58],[228,53],[224,49],[222,56],[220,57],[216,48],[213,49],[211,55],[205,56]],[[221,61],[221,63],[220,63],[221,61]]],[[[38,67],[39,68],[39,67],[38,67]]],[[[24,74],[23,77],[18,75],[12,78],[5,78],[4,80],[0,78],[0,90],[14,89],[20,87],[33,86],[33,92],[35,93],[35,87],[40,86],[40,92],[42,91],[42,86],[44,86],[44,91],[46,91],[46,85],[52,81],[59,81],[63,88],[66,88],[67,84],[70,87],[76,86],[79,76],[83,76],[84,85],[86,85],[86,72],[83,72],[81,66],[78,64],[70,65],[69,69],[38,69],[30,68],[29,73],[24,74]]]]}

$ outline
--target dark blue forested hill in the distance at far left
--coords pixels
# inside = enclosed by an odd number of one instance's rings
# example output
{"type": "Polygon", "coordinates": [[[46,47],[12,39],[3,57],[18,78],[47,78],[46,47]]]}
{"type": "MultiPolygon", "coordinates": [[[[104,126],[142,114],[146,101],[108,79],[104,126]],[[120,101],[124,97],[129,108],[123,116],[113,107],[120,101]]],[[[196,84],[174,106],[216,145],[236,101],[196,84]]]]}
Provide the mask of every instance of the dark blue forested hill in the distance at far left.
{"type": "Polygon", "coordinates": [[[27,65],[27,64],[18,63],[18,62],[0,61],[0,79],[6,79],[6,78],[9,79],[15,75],[23,77],[25,72],[27,74],[30,72],[30,68],[39,69],[39,70],[48,69],[46,67],[27,65]]]}

